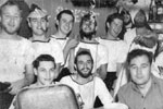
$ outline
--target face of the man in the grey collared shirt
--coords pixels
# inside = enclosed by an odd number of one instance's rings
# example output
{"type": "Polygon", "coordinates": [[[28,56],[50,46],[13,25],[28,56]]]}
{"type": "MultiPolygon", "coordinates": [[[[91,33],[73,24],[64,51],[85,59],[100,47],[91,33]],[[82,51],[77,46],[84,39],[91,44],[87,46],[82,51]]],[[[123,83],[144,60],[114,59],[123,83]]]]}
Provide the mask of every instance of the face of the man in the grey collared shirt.
{"type": "Polygon", "coordinates": [[[131,80],[137,85],[146,85],[151,75],[151,63],[147,56],[138,56],[130,60],[129,63],[129,71],[131,80]]]}

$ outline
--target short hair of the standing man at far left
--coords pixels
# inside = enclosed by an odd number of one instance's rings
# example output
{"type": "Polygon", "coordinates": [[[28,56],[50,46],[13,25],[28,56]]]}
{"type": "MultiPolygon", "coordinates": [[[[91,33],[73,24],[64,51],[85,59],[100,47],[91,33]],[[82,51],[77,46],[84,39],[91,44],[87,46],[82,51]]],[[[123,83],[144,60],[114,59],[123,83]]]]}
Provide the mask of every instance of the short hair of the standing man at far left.
{"type": "MultiPolygon", "coordinates": [[[[7,5],[11,5],[11,7],[12,7],[12,5],[16,5],[16,7],[20,9],[20,11],[22,11],[22,9],[21,9],[20,4],[17,3],[17,1],[8,0],[5,3],[3,3],[3,4],[0,7],[0,15],[2,14],[3,9],[4,9],[7,5]]],[[[22,15],[22,12],[21,12],[21,15],[22,15]]]]}

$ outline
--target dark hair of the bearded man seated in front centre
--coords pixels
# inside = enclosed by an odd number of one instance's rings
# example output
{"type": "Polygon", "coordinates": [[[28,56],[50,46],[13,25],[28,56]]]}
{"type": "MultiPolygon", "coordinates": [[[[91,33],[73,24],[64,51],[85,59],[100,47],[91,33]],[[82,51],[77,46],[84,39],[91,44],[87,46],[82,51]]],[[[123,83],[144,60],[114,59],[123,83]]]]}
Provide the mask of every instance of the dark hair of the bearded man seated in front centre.
{"type": "Polygon", "coordinates": [[[77,55],[76,55],[76,57],[75,57],[74,63],[77,64],[77,58],[78,58],[79,56],[85,56],[85,55],[87,55],[87,56],[90,57],[91,62],[92,62],[92,64],[93,64],[93,59],[92,59],[92,57],[91,57],[91,53],[90,53],[89,51],[87,51],[87,50],[82,50],[82,51],[77,52],[77,55]]]}

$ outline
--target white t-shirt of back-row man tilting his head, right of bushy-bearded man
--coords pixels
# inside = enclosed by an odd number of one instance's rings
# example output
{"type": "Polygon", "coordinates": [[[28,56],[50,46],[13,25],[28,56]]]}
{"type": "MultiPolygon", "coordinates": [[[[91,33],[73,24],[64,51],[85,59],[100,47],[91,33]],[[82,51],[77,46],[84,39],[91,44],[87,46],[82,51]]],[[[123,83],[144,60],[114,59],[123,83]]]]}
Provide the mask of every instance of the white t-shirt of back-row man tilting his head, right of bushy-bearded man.
{"type": "Polygon", "coordinates": [[[128,53],[127,45],[123,40],[98,40],[101,45],[108,48],[108,72],[116,72],[116,64],[124,63],[128,53]]]}

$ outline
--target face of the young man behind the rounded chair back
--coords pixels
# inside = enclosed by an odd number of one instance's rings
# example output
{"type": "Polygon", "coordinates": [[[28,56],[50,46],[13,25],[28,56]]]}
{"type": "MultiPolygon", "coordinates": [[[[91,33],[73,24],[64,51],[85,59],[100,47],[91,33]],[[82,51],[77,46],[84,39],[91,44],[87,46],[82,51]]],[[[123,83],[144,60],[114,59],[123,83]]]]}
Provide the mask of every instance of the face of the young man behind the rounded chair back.
{"type": "Polygon", "coordinates": [[[53,80],[58,76],[54,62],[52,61],[40,61],[39,66],[34,69],[34,71],[39,85],[51,85],[53,80]]]}

